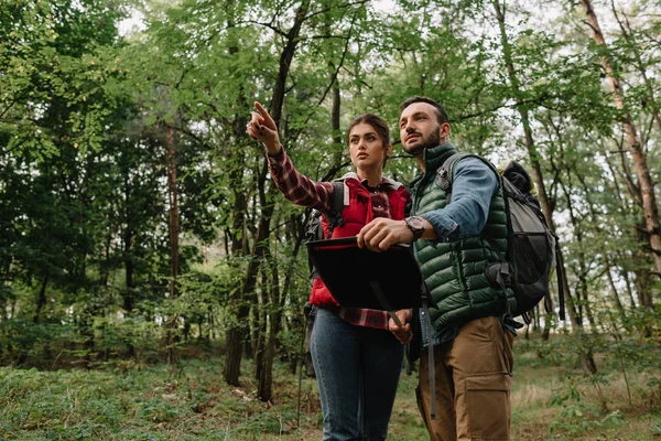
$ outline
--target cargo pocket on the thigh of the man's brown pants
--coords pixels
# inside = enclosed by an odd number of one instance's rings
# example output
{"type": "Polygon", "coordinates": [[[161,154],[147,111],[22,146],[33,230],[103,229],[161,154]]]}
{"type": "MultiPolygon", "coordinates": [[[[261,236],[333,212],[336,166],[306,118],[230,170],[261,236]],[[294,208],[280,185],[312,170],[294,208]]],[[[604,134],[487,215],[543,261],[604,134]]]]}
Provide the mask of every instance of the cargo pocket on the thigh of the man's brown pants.
{"type": "Polygon", "coordinates": [[[472,439],[509,440],[511,380],[507,374],[466,377],[466,400],[472,439]]]}

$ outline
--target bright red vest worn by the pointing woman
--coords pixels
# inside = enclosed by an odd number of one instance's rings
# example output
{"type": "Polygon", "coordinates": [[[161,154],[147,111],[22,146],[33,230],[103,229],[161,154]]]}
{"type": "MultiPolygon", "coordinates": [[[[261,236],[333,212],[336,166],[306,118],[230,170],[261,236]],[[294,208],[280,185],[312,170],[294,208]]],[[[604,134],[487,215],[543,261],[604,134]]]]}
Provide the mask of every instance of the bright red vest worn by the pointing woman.
{"type": "MultiPolygon", "coordinates": [[[[356,179],[347,179],[345,181],[346,189],[348,189],[349,205],[345,205],[342,217],[344,225],[338,225],[333,230],[333,238],[349,237],[358,235],[360,228],[367,225],[373,219],[373,212],[371,205],[371,197],[367,189],[360,184],[356,179]]],[[[404,218],[404,208],[407,202],[411,196],[409,191],[403,186],[399,186],[397,190],[388,190],[388,200],[390,202],[390,216],[395,220],[404,218]]],[[[324,234],[328,234],[328,223],[326,216],[322,216],[322,226],[324,234]]],[[[328,288],[322,280],[316,278],[312,284],[312,292],[310,293],[310,303],[316,306],[339,306],[339,303],[333,298],[328,288]]]]}

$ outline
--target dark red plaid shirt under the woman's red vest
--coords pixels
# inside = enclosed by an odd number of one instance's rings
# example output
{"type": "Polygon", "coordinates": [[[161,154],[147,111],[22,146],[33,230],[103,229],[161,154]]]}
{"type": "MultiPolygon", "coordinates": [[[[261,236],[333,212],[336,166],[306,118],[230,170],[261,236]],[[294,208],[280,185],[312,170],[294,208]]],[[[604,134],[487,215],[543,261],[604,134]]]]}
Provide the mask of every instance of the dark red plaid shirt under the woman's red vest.
{"type": "MultiPolygon", "coordinates": [[[[296,205],[316,208],[321,212],[330,209],[332,183],[316,182],[299,173],[284,149],[281,149],[280,153],[274,157],[267,155],[267,158],[271,178],[284,197],[296,205]]],[[[356,173],[347,173],[345,176],[360,181],[356,173]]],[[[390,202],[387,193],[390,184],[388,181],[383,180],[376,187],[367,185],[367,180],[362,180],[361,183],[371,196],[373,216],[390,218],[390,202]]],[[[386,311],[340,306],[337,314],[344,321],[357,326],[388,330],[389,316],[386,311]]]]}

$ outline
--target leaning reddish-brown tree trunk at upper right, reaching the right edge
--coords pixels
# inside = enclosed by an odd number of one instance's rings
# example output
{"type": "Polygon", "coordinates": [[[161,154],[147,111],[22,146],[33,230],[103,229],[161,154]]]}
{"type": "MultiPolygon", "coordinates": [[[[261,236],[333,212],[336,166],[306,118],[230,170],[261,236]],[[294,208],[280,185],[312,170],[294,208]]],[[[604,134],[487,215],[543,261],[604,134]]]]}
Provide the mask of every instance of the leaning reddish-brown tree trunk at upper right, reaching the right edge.
{"type": "Polygon", "coordinates": [[[585,9],[587,23],[592,28],[595,42],[597,45],[604,49],[604,55],[602,55],[600,62],[602,67],[606,72],[606,75],[613,87],[613,99],[618,109],[622,111],[621,121],[625,131],[625,139],[629,146],[629,152],[633,161],[636,175],[640,185],[640,192],[642,195],[642,211],[644,214],[644,226],[646,232],[649,235],[649,245],[654,259],[657,271],[661,275],[661,234],[659,229],[659,209],[657,207],[657,196],[654,192],[654,183],[650,175],[650,170],[647,164],[647,158],[642,151],[640,139],[631,114],[628,111],[625,105],[625,92],[621,86],[620,79],[617,77],[613,64],[608,58],[605,50],[607,49],[606,40],[602,33],[599,22],[595,10],[592,7],[590,0],[581,0],[585,9]]]}

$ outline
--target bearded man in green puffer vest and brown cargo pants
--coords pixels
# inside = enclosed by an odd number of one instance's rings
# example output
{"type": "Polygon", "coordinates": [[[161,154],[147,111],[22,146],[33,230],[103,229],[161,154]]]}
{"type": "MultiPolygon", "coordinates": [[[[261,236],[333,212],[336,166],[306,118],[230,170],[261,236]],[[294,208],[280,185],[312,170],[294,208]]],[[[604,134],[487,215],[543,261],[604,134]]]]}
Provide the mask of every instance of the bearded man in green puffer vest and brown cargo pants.
{"type": "MultiPolygon", "coordinates": [[[[481,159],[464,158],[451,172],[448,202],[437,173],[457,152],[447,141],[447,114],[430,98],[409,98],[401,105],[399,127],[404,150],[422,170],[411,185],[411,217],[372,220],[360,230],[358,245],[381,251],[398,243],[414,243],[425,284],[438,306],[430,309],[432,335],[425,332],[426,318],[422,321],[416,390],[431,439],[509,440],[513,330],[502,320],[508,311],[506,295],[511,309],[516,300],[511,290],[503,293],[492,287],[485,273],[499,261],[490,244],[507,243],[499,180],[481,159]],[[433,366],[427,358],[430,344],[433,366]],[[429,369],[435,374],[434,394],[429,369]]],[[[390,330],[407,344],[412,338],[413,311],[398,311],[398,315],[403,326],[391,320],[390,330]]]]}

